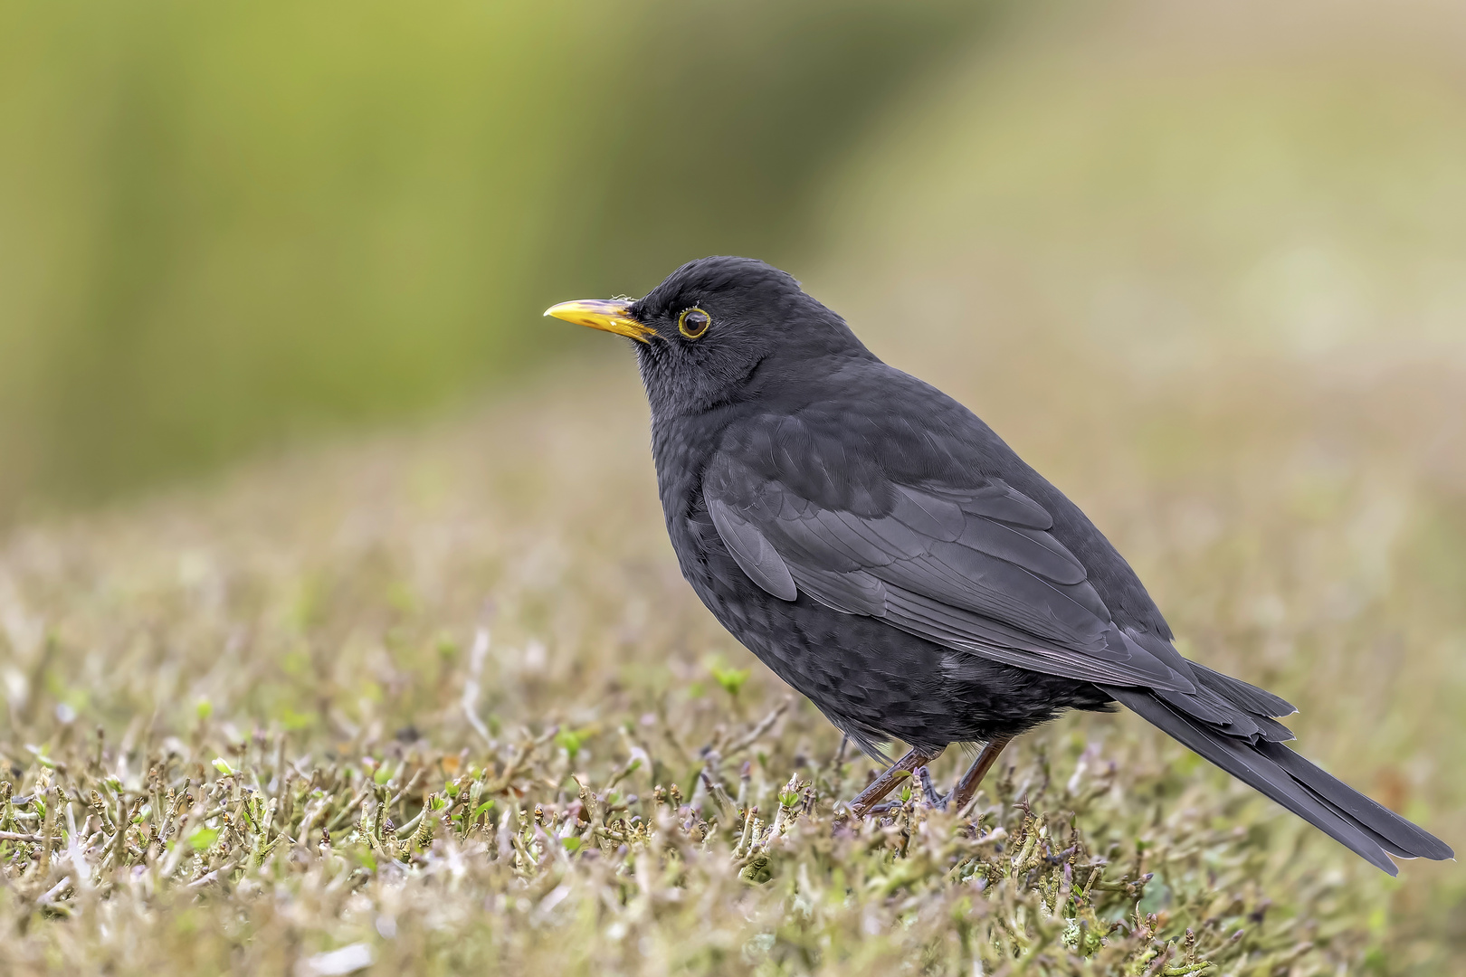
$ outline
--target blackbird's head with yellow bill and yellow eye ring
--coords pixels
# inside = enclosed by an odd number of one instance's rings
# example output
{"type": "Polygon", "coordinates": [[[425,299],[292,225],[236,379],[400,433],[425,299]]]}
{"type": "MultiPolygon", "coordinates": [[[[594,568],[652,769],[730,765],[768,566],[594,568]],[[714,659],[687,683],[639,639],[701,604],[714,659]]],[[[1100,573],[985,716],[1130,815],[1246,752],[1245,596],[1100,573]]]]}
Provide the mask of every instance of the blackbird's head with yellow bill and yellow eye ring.
{"type": "Polygon", "coordinates": [[[633,340],[654,415],[696,413],[745,395],[756,376],[863,354],[839,315],[752,258],[699,258],[642,299],[561,302],[545,315],[633,340]]]}

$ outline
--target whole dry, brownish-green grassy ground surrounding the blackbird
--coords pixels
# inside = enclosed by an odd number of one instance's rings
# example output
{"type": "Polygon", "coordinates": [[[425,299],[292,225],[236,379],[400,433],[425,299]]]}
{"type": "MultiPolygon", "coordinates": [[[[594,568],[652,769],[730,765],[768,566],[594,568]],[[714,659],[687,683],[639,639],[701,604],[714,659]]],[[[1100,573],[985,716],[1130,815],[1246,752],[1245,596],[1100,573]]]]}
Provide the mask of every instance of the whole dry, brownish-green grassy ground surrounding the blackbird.
{"type": "MultiPolygon", "coordinates": [[[[1309,756],[1460,844],[1451,369],[1212,363],[1078,409],[1035,378],[1094,356],[1039,346],[947,385],[1097,517],[1190,653],[1297,702],[1309,756]]],[[[13,530],[6,968],[1459,967],[1454,864],[1390,880],[1132,716],[1025,737],[965,816],[909,795],[843,820],[871,762],[686,590],[644,423],[629,365],[576,368],[13,530]]]]}

